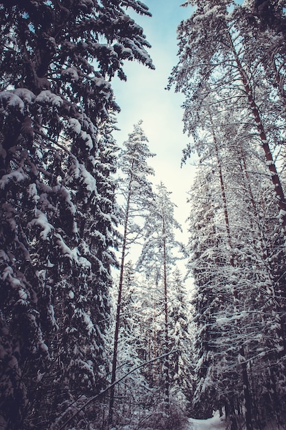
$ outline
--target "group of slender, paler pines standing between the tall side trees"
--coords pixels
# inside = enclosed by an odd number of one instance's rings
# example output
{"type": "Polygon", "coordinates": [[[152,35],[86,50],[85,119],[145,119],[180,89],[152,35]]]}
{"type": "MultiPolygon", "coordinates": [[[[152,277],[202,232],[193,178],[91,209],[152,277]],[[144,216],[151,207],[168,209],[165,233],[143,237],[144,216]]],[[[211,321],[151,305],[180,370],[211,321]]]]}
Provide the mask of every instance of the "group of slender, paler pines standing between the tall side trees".
{"type": "Polygon", "coordinates": [[[184,392],[189,388],[191,305],[176,267],[184,247],[176,240],[180,225],[175,205],[163,183],[154,188],[149,180],[154,174],[150,157],[154,154],[139,122],[118,155],[122,237],[109,341],[108,423],[175,429],[184,424],[184,392]],[[136,254],[134,264],[130,256],[136,254]],[[123,385],[117,385],[125,375],[123,385]]]}

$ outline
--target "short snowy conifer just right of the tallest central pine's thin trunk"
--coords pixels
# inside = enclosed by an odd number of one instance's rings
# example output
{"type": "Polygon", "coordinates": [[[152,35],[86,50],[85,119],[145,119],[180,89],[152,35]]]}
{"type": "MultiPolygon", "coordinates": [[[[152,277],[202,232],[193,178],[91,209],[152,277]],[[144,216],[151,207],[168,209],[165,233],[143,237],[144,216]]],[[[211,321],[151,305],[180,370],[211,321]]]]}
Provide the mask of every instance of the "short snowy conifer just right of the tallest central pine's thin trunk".
{"type": "MultiPolygon", "coordinates": [[[[130,261],[127,261],[124,267],[122,298],[117,339],[117,379],[128,375],[134,367],[139,367],[147,361],[145,354],[142,353],[145,349],[142,327],[146,309],[142,307],[141,280],[130,261]]],[[[113,347],[113,338],[112,325],[110,349],[113,347]]],[[[145,371],[145,367],[141,367],[116,385],[113,420],[117,425],[132,424],[135,427],[138,417],[144,414],[144,405],[152,395],[145,371]]]]}

